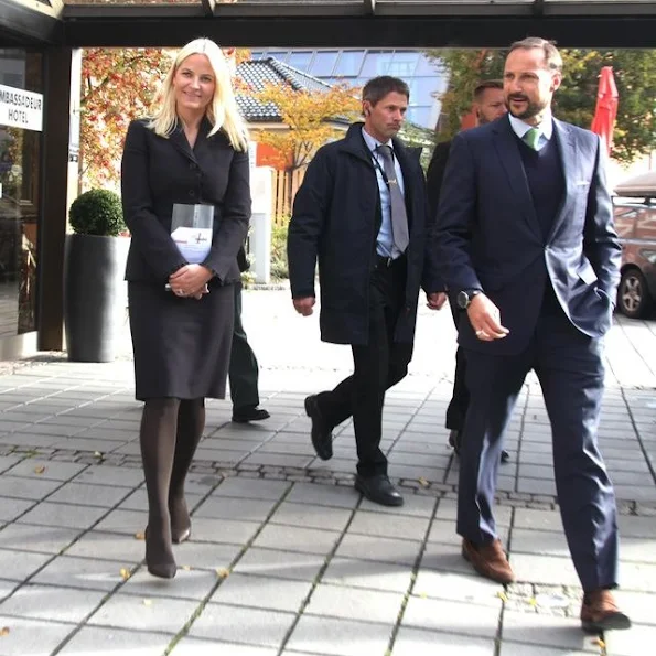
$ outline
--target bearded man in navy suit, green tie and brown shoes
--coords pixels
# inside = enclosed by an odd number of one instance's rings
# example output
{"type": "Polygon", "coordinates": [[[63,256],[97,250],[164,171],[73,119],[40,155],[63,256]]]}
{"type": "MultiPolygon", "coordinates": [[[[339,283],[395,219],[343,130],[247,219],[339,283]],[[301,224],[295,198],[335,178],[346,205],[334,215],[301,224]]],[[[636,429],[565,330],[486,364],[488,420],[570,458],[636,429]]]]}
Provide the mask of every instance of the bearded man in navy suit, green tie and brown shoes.
{"type": "Polygon", "coordinates": [[[582,626],[627,628],[617,584],[615,496],[596,438],[621,248],[599,138],[551,116],[562,79],[552,43],[510,46],[508,116],[458,135],[434,232],[437,261],[466,311],[470,406],[461,450],[462,553],[495,581],[515,580],[493,505],[502,435],[526,374],[551,422],[558,501],[583,587],[582,626]]]}

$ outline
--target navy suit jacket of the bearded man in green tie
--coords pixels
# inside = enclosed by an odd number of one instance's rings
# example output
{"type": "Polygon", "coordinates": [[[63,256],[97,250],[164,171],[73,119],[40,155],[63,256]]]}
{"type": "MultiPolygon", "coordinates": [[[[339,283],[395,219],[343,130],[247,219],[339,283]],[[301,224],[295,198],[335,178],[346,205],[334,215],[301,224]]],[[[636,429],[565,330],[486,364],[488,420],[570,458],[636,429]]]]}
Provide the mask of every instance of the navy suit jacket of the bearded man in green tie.
{"type": "Polygon", "coordinates": [[[564,195],[545,239],[508,117],[453,139],[432,235],[442,277],[454,292],[482,289],[509,335],[476,338],[463,312],[460,343],[490,354],[523,351],[550,280],[576,329],[602,336],[612,324],[621,246],[613,227],[599,137],[553,119],[564,195]]]}

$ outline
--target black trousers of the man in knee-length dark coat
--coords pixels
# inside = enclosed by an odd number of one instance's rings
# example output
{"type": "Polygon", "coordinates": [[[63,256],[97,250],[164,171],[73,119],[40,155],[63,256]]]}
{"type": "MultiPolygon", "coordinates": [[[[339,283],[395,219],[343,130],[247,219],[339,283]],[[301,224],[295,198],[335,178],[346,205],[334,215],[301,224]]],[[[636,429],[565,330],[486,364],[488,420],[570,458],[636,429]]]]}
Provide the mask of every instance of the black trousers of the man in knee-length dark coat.
{"type": "Polygon", "coordinates": [[[319,408],[332,426],[353,416],[357,472],[363,476],[387,473],[387,458],[380,450],[385,392],[406,376],[412,358],[412,343],[394,338],[405,290],[406,259],[389,267],[379,260],[370,278],[367,344],[352,345],[353,375],[318,395],[319,408]]]}

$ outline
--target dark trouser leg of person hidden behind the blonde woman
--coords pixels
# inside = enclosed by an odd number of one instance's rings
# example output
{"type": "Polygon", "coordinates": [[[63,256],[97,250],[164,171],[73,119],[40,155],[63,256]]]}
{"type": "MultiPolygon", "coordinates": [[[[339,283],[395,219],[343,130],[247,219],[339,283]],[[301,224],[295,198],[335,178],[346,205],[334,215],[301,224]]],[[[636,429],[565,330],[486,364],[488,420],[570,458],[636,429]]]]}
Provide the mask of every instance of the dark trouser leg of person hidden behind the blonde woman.
{"type": "Polygon", "coordinates": [[[241,283],[236,282],[235,288],[235,327],[233,329],[233,345],[228,379],[230,381],[230,399],[233,408],[258,406],[259,365],[255,353],[248,343],[241,323],[241,283]]]}

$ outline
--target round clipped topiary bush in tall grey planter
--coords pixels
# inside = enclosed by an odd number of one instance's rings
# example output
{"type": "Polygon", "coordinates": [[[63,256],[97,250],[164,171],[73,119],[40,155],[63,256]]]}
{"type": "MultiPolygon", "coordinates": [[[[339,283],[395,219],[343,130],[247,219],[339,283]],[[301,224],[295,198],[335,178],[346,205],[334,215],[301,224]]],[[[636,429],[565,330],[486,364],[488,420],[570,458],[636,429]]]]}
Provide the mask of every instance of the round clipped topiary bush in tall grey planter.
{"type": "Polygon", "coordinates": [[[123,271],[129,239],[121,201],[108,190],[79,195],[68,213],[64,329],[68,359],[110,362],[126,309],[123,271]]]}

